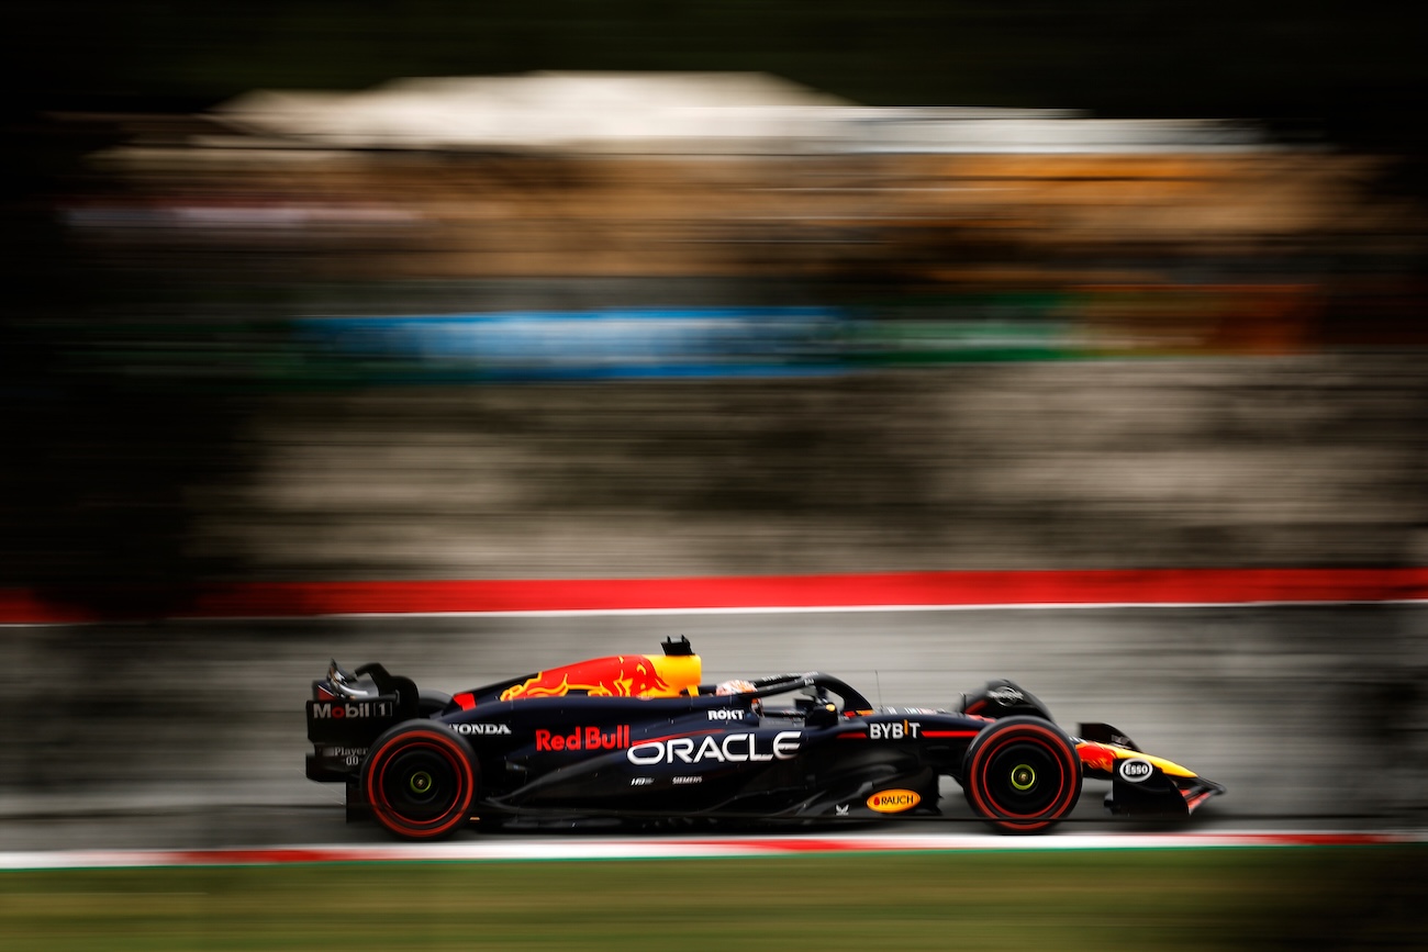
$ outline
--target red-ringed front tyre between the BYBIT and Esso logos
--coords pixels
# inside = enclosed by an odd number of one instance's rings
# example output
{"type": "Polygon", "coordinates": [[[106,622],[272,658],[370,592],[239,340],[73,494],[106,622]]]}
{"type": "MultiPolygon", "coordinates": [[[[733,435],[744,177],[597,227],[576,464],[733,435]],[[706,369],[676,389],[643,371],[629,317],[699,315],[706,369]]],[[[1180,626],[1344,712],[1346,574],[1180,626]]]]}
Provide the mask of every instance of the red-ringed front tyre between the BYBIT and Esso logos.
{"type": "Polygon", "coordinates": [[[962,761],[972,811],[1004,834],[1038,834],[1081,798],[1081,758],[1057,725],[1041,718],[988,724],[962,761]]]}

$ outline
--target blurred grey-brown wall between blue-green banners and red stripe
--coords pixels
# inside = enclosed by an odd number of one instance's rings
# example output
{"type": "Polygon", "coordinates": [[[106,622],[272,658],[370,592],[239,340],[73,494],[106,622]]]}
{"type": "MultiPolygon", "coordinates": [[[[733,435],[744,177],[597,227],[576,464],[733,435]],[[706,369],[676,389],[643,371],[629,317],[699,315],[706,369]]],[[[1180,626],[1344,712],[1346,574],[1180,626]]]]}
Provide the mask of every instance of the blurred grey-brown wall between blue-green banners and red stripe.
{"type": "Polygon", "coordinates": [[[1421,564],[1412,357],[268,398],[194,544],[258,578],[1421,564]]]}

